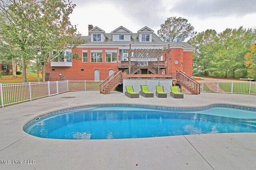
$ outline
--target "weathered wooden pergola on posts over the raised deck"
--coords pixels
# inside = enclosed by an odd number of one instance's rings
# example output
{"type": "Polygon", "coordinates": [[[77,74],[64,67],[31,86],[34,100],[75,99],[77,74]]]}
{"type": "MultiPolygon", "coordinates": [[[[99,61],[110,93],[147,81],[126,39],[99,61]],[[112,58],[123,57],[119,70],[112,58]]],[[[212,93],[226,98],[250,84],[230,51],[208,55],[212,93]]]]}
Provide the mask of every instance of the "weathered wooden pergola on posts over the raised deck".
{"type": "Polygon", "coordinates": [[[162,55],[167,53],[167,74],[169,74],[169,57],[170,57],[170,44],[168,44],[168,49],[130,49],[128,50],[128,63],[129,63],[129,72],[131,70],[131,58],[135,59],[156,59],[159,70],[159,59],[162,55]]]}

